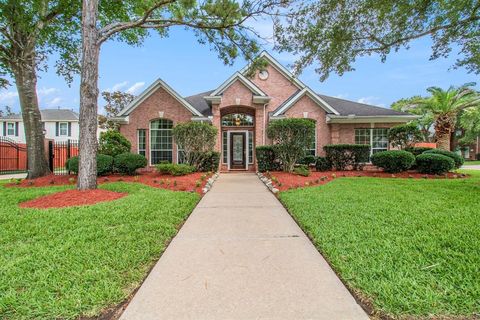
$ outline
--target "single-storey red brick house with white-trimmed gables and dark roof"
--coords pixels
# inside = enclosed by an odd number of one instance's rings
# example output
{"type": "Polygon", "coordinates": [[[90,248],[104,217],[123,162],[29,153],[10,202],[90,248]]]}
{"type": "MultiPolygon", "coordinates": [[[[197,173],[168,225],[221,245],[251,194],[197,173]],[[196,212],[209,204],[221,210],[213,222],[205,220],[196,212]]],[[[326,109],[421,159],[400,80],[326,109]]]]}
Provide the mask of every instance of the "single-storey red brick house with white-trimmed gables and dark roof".
{"type": "Polygon", "coordinates": [[[172,138],[175,124],[208,121],[218,128],[215,149],[221,152],[221,170],[254,170],[255,147],[269,144],[270,121],[286,117],[315,121],[315,144],[309,153],[323,155],[332,143],[369,144],[372,153],[387,150],[388,128],[416,116],[329,97],[313,92],[268,53],[267,67],[247,78],[248,66],[212,91],[181,97],[162,80],[155,81],[113,120],[132,143],[132,150],[150,165],[178,162],[172,138]]]}

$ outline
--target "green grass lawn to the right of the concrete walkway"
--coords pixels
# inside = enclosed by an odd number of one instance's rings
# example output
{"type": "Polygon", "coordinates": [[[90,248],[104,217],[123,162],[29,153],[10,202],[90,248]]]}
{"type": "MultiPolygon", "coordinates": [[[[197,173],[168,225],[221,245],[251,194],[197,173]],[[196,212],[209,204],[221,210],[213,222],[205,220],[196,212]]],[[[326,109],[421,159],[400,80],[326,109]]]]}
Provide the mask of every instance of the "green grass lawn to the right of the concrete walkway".
{"type": "Polygon", "coordinates": [[[480,172],[280,193],[343,281],[390,316],[480,313],[480,172]]]}

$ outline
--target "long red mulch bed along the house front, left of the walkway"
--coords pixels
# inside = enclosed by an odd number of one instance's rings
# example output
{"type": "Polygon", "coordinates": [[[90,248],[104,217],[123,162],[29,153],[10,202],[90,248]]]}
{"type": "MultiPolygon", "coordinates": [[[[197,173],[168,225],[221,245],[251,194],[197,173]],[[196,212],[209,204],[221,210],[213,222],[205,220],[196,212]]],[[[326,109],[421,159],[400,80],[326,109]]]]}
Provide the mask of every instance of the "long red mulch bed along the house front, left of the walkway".
{"type": "MultiPolygon", "coordinates": [[[[98,177],[97,183],[108,182],[137,182],[143,183],[151,187],[160,189],[169,189],[174,191],[189,191],[202,194],[202,188],[207,183],[211,174],[205,172],[195,172],[185,176],[171,176],[162,175],[158,172],[143,172],[136,176],[122,176],[119,174],[113,174],[104,177],[98,177]]],[[[75,185],[77,183],[77,176],[75,175],[49,175],[32,180],[21,180],[18,183],[10,183],[10,187],[45,187],[45,186],[58,186],[58,185],[75,185]]]]}

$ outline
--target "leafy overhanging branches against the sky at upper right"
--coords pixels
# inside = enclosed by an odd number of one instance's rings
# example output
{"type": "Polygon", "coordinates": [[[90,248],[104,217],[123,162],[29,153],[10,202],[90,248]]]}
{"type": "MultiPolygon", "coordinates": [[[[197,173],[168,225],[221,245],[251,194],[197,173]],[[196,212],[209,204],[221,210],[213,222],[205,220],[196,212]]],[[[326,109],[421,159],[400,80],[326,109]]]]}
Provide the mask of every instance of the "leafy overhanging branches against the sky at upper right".
{"type": "Polygon", "coordinates": [[[454,67],[478,74],[479,30],[478,0],[305,1],[276,21],[277,48],[300,57],[297,71],[318,61],[322,80],[353,70],[358,57],[377,54],[385,61],[422,37],[432,40],[431,59],[458,48],[454,67]]]}

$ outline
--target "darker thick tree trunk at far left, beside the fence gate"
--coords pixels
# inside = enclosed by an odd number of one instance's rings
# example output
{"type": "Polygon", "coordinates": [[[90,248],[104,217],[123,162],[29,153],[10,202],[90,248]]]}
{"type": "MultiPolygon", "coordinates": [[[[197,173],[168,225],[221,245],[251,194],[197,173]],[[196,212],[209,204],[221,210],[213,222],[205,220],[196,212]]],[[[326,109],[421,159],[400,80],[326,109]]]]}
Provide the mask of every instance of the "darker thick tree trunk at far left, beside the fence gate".
{"type": "Polygon", "coordinates": [[[38,108],[35,54],[32,52],[27,57],[23,57],[13,71],[25,127],[27,178],[34,179],[51,173],[45,153],[45,137],[38,108]]]}

